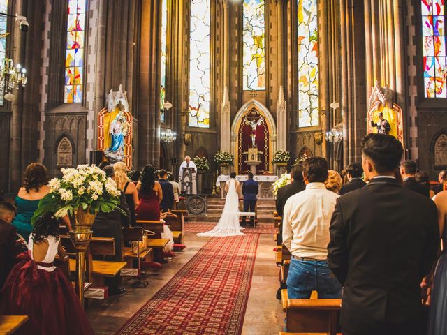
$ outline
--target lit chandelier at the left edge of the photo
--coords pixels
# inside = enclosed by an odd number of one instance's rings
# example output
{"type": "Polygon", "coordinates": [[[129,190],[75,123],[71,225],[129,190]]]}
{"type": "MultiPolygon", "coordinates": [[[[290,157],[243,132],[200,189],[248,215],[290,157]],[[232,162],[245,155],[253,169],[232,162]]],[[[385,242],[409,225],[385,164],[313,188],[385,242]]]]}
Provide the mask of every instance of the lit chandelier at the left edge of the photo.
{"type": "Polygon", "coordinates": [[[4,98],[14,100],[13,89],[19,89],[27,84],[27,69],[20,64],[14,66],[13,59],[5,58],[0,64],[0,90],[3,90],[4,98]]]}

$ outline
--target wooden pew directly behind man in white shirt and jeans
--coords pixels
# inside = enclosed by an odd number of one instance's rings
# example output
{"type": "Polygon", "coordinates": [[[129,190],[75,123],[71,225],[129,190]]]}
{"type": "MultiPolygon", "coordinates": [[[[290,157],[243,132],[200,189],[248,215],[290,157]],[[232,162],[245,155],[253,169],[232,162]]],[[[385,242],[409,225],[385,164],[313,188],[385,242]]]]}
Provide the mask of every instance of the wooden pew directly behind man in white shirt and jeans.
{"type": "Polygon", "coordinates": [[[281,291],[287,332],[337,335],[342,299],[318,299],[315,296],[312,292],[310,299],[288,299],[287,290],[281,291]]]}

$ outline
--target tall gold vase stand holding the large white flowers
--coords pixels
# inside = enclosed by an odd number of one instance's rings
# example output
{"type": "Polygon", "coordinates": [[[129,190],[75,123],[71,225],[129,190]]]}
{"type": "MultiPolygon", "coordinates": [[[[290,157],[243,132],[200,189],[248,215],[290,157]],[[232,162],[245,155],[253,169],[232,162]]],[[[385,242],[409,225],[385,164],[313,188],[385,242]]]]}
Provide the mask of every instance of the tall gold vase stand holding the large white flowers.
{"type": "Polygon", "coordinates": [[[75,210],[75,226],[71,230],[70,239],[76,249],[76,293],[82,307],[84,307],[84,284],[85,284],[85,251],[91,241],[91,226],[95,221],[96,214],[90,214],[90,207],[83,211],[82,207],[75,210]]]}

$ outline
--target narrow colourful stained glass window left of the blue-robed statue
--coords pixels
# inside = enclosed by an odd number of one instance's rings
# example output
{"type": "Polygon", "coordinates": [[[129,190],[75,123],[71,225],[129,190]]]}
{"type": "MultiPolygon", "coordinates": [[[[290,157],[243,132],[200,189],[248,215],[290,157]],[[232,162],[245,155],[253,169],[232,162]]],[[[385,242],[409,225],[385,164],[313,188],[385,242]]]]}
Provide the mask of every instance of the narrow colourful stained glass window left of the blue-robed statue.
{"type": "Polygon", "coordinates": [[[65,58],[65,103],[82,102],[84,70],[85,0],[68,0],[65,58]]]}

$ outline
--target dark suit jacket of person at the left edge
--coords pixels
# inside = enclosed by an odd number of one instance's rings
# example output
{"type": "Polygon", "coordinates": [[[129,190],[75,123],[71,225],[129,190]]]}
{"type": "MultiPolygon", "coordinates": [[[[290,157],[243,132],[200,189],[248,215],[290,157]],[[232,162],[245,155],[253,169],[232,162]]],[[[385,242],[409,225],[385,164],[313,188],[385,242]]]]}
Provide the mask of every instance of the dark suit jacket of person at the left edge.
{"type": "Polygon", "coordinates": [[[15,265],[15,257],[22,251],[16,240],[15,227],[0,220],[0,290],[15,265]]]}

